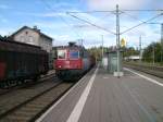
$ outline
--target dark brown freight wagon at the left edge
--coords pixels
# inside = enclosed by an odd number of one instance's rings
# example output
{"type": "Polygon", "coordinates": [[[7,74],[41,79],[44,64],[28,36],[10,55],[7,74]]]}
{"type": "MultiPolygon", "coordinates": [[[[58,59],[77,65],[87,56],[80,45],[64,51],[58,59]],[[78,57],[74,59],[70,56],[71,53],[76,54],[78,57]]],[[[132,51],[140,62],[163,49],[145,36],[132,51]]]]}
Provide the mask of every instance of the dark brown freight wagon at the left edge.
{"type": "Polygon", "coordinates": [[[40,47],[0,38],[0,87],[37,80],[48,70],[48,53],[40,47]]]}

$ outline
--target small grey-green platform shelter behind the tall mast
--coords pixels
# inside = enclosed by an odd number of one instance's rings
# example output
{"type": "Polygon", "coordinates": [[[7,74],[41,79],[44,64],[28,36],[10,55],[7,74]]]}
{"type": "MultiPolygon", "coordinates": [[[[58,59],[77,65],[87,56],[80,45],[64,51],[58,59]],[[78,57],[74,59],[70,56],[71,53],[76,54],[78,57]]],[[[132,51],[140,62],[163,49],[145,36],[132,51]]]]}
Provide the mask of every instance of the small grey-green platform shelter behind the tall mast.
{"type": "MultiPolygon", "coordinates": [[[[120,72],[122,72],[122,62],[123,62],[123,51],[120,51],[120,72]]],[[[108,52],[108,70],[109,73],[113,74],[117,72],[117,52],[110,51],[108,52]]]]}

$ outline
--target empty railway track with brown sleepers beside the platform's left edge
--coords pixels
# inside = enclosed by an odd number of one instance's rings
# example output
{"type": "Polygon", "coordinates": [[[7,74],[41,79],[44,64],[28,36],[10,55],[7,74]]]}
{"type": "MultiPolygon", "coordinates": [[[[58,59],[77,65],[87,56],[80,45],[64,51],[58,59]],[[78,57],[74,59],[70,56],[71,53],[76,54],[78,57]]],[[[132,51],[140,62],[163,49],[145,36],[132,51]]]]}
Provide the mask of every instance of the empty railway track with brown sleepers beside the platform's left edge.
{"type": "Polygon", "coordinates": [[[0,96],[0,122],[34,121],[74,83],[47,82],[0,96]]]}

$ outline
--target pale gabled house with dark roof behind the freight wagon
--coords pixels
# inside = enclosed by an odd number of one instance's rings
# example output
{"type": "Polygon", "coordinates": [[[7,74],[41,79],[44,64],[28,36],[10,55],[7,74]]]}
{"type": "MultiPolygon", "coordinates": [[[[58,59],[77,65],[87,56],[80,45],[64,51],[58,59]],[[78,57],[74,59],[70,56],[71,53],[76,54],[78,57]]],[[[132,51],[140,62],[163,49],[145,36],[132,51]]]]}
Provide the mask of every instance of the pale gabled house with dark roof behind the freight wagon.
{"type": "Polygon", "coordinates": [[[40,46],[49,53],[52,51],[52,38],[41,33],[37,26],[34,26],[34,28],[23,26],[17,32],[13,33],[10,38],[15,41],[40,46]]]}

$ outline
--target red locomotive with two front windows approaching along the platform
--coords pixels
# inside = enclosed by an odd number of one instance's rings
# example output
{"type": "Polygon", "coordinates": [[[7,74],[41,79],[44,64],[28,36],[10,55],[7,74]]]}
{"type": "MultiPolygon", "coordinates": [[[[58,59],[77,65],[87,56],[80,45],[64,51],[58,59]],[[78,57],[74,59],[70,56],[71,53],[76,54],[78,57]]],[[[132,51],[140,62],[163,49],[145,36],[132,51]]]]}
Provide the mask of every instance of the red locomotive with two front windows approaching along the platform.
{"type": "Polygon", "coordinates": [[[68,42],[68,46],[57,48],[54,69],[57,76],[63,81],[73,81],[80,77],[95,64],[95,57],[90,56],[83,46],[68,42]]]}

